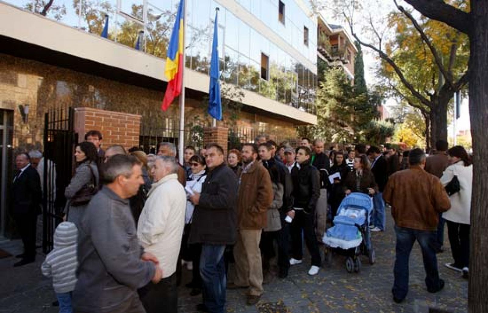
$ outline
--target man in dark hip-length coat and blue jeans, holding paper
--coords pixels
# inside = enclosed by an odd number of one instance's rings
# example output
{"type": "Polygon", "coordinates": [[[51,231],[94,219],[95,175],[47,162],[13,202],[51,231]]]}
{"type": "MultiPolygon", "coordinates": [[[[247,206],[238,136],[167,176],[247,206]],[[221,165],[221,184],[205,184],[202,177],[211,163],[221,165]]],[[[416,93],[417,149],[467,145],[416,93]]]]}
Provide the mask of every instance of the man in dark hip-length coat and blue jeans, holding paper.
{"type": "Polygon", "coordinates": [[[203,304],[197,310],[223,313],[226,298],[224,251],[237,236],[237,176],[224,163],[224,150],[218,144],[206,148],[209,172],[202,193],[189,200],[195,205],[188,243],[201,243],[200,274],[203,304]]]}

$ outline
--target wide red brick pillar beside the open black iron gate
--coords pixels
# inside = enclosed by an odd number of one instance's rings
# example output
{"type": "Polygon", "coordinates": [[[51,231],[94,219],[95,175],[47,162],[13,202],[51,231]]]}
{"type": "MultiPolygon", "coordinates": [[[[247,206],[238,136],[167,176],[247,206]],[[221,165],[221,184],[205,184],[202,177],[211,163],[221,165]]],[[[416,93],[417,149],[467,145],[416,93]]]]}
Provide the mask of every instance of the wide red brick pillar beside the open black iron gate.
{"type": "Polygon", "coordinates": [[[102,133],[102,149],[120,144],[125,149],[139,147],[141,116],[129,113],[92,108],[75,109],[75,132],[83,141],[86,132],[98,130],[102,133]]]}

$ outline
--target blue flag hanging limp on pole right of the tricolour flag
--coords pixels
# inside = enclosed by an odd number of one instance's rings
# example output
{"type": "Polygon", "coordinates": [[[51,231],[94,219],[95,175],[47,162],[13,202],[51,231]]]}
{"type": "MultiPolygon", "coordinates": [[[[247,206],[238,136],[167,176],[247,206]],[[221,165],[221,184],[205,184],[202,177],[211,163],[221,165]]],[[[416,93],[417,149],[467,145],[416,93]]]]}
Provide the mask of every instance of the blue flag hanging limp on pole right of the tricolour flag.
{"type": "Polygon", "coordinates": [[[210,60],[210,89],[208,91],[208,114],[222,120],[222,99],[220,96],[220,66],[219,66],[219,23],[215,12],[214,37],[212,43],[212,58],[210,60]]]}

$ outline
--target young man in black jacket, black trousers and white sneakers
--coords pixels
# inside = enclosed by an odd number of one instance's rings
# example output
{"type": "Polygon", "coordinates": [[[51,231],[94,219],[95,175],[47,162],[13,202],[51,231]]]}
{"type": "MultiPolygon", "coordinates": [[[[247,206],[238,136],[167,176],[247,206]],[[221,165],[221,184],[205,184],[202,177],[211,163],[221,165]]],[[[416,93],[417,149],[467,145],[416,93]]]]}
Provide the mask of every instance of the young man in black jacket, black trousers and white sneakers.
{"type": "Polygon", "coordinates": [[[315,235],[315,206],[320,196],[320,174],[310,164],[311,151],[308,147],[297,148],[297,164],[291,171],[293,182],[293,210],[295,216],[291,223],[290,264],[302,263],[302,230],[308,252],[312,256],[312,266],[308,274],[315,275],[321,266],[321,257],[315,235]]]}

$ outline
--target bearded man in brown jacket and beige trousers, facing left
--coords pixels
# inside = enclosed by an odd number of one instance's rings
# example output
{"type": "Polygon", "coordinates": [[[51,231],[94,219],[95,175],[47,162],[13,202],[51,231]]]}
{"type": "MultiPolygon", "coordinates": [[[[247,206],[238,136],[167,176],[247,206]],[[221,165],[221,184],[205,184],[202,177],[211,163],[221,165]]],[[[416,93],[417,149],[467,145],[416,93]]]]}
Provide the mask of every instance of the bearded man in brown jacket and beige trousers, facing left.
{"type": "Polygon", "coordinates": [[[247,288],[247,304],[256,304],[263,294],[263,270],[259,242],[266,226],[266,211],[273,202],[268,171],[257,161],[258,147],[244,144],[243,171],[239,177],[237,200],[237,241],[234,246],[236,278],[229,288],[247,288]]]}

